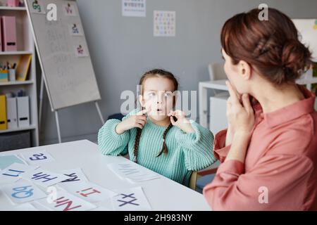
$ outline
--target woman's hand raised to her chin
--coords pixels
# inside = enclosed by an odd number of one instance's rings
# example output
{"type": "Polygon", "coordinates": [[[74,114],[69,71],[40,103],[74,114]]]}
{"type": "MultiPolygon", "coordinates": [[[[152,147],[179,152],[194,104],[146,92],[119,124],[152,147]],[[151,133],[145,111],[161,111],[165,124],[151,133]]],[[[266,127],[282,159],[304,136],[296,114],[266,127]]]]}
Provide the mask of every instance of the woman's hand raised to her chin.
{"type": "MultiPolygon", "coordinates": [[[[226,84],[230,93],[230,98],[227,101],[227,117],[230,136],[233,138],[237,133],[250,135],[251,130],[254,127],[255,119],[254,110],[249,100],[249,94],[243,94],[241,96],[242,103],[240,103],[240,96],[238,96],[230,82],[226,82],[226,84]]],[[[232,140],[228,141],[231,142],[232,140]]]]}

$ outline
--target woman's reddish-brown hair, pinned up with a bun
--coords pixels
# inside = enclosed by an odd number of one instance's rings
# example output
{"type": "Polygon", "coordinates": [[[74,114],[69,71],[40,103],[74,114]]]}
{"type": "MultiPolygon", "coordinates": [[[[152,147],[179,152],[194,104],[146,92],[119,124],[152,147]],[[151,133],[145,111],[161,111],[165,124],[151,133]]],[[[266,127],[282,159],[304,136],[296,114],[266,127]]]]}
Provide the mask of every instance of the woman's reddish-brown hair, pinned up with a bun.
{"type": "Polygon", "coordinates": [[[268,8],[268,20],[259,20],[261,10],[240,13],[225,22],[221,31],[223,50],[237,65],[240,60],[273,84],[294,82],[311,64],[311,52],[299,41],[292,20],[268,8]]]}

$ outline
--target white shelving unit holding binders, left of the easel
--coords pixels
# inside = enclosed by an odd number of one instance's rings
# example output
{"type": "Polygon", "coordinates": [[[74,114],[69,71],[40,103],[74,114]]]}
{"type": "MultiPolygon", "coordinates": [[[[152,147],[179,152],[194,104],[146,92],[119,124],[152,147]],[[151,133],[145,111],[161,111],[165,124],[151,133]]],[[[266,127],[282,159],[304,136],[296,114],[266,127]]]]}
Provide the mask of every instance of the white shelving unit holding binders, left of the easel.
{"type": "Polygon", "coordinates": [[[16,131],[30,131],[32,146],[39,146],[35,43],[32,36],[31,25],[27,18],[27,11],[25,7],[0,6],[0,16],[2,15],[13,15],[16,18],[18,51],[0,51],[0,62],[4,63],[7,60],[10,62],[18,62],[20,56],[26,54],[32,56],[32,61],[26,81],[0,82],[0,94],[7,94],[10,92],[17,93],[19,90],[23,89],[26,95],[30,97],[30,126],[1,130],[0,135],[16,131]]]}

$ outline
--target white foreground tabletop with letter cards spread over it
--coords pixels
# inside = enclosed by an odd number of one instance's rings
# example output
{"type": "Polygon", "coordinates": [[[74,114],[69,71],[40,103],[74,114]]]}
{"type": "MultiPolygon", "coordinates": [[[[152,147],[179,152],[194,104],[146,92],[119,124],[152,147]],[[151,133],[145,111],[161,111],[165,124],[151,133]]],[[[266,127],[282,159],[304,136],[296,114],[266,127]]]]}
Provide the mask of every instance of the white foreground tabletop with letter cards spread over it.
{"type": "MultiPolygon", "coordinates": [[[[161,176],[160,179],[145,181],[139,184],[131,184],[128,181],[120,179],[108,169],[107,165],[109,163],[127,162],[128,160],[121,156],[113,157],[101,155],[98,146],[87,140],[13,150],[1,153],[0,155],[14,155],[35,150],[46,150],[46,152],[50,153],[56,160],[41,165],[43,169],[59,172],[63,169],[81,168],[89,181],[111,190],[142,186],[152,210],[210,210],[203,195],[164,176],[161,176]]],[[[109,208],[108,204],[111,203],[109,201],[103,204],[104,205],[99,206],[108,206],[109,208]]],[[[11,210],[12,208],[13,205],[11,205],[10,201],[3,193],[0,193],[0,210],[11,210]]]]}

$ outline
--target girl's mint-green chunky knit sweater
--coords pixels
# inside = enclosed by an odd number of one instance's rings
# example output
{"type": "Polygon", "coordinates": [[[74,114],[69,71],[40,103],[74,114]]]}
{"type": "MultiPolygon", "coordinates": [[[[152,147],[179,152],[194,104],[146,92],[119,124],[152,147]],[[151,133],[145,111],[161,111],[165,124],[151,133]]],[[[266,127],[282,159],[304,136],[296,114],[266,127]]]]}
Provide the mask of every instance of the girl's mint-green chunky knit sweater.
{"type": "MultiPolygon", "coordinates": [[[[135,115],[133,110],[123,118],[135,115]]],[[[147,124],[142,129],[139,139],[137,163],[153,170],[180,184],[188,186],[193,171],[209,167],[216,162],[213,157],[213,134],[209,129],[190,121],[195,133],[185,133],[178,127],[172,127],[166,134],[168,154],[156,157],[163,145],[163,133],[166,127],[160,127],[147,117],[147,124]]],[[[98,144],[104,155],[126,155],[133,158],[133,148],[137,129],[133,128],[123,134],[116,133],[120,120],[108,120],[99,130],[98,144]]]]}

